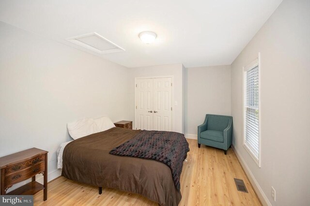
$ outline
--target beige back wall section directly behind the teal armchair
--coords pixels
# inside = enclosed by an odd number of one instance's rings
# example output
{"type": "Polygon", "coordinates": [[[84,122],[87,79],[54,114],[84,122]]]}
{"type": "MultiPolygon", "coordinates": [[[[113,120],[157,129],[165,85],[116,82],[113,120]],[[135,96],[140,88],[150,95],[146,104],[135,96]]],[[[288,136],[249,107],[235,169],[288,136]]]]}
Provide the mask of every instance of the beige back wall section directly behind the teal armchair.
{"type": "Polygon", "coordinates": [[[206,114],[231,115],[231,67],[187,69],[186,136],[197,139],[206,114]]]}

